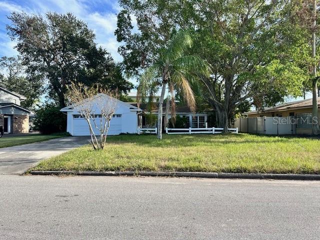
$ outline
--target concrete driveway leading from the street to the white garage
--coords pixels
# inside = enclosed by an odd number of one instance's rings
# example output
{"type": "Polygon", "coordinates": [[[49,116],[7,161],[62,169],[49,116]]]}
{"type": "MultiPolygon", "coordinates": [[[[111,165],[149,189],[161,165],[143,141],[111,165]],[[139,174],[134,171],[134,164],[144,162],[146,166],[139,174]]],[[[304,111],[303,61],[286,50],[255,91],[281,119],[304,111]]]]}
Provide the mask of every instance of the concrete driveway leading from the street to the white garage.
{"type": "Polygon", "coordinates": [[[0,174],[23,173],[38,161],[87,144],[87,136],[68,136],[0,148],[0,174]]]}

